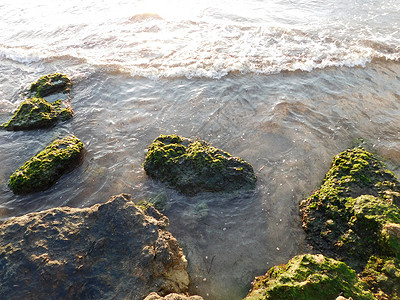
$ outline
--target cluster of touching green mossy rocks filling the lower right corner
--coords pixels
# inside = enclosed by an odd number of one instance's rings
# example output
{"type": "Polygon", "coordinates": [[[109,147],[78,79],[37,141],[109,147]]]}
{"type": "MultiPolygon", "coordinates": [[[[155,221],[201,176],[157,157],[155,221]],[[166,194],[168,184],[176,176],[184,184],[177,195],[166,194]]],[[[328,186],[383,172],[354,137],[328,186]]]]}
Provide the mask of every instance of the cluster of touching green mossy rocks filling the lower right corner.
{"type": "Polygon", "coordinates": [[[372,153],[335,156],[300,204],[308,241],[323,255],[271,268],[246,299],[400,299],[399,196],[398,180],[372,153]]]}

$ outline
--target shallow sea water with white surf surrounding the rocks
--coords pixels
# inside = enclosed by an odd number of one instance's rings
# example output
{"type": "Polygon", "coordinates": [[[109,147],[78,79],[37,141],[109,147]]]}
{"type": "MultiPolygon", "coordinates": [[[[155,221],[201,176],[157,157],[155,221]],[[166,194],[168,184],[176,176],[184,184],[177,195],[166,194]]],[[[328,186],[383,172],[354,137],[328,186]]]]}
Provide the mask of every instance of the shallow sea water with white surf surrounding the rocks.
{"type": "Polygon", "coordinates": [[[363,142],[400,176],[398,0],[0,1],[0,122],[38,77],[74,84],[72,120],[0,131],[0,218],[161,199],[190,292],[241,299],[257,275],[311,251],[299,202],[363,142]],[[14,195],[12,172],[74,134],[82,164],[14,195]],[[143,171],[159,134],[204,139],[255,169],[251,193],[185,197],[143,171]]]}

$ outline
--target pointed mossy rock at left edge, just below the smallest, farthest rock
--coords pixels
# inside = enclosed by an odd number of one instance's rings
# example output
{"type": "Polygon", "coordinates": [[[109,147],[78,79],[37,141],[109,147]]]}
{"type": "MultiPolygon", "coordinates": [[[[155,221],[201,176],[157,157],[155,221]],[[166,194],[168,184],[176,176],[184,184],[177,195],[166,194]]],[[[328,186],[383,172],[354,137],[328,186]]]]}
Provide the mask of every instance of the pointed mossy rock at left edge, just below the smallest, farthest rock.
{"type": "Polygon", "coordinates": [[[13,117],[1,126],[7,130],[45,128],[53,126],[59,120],[66,121],[72,116],[72,109],[62,108],[61,100],[51,104],[43,98],[31,98],[22,102],[13,117]]]}

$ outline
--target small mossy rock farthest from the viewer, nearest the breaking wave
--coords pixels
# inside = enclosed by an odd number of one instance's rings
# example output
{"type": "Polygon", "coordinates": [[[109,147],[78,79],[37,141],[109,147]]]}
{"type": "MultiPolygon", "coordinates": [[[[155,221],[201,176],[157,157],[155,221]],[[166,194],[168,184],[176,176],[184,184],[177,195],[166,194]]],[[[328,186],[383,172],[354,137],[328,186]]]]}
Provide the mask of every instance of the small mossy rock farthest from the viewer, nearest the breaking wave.
{"type": "Polygon", "coordinates": [[[71,87],[71,80],[66,75],[54,73],[40,77],[31,84],[29,91],[36,97],[46,97],[55,93],[70,93],[71,87]]]}

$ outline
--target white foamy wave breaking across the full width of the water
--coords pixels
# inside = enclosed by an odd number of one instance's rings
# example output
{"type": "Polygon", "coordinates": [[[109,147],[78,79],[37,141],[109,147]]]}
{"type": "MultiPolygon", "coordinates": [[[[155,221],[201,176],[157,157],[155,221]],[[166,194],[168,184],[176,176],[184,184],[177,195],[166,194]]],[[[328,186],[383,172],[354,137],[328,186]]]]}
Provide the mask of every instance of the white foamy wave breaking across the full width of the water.
{"type": "Polygon", "coordinates": [[[219,79],[231,73],[310,72],[329,67],[364,67],[374,60],[400,60],[398,37],[382,39],[365,32],[350,35],[351,28],[341,32],[332,30],[331,25],[294,28],[175,22],[155,14],[132,18],[133,23],[123,28],[121,23],[106,31],[85,32],[86,28],[81,28],[79,39],[66,37],[59,42],[58,38],[50,40],[49,46],[0,45],[0,58],[23,64],[87,65],[151,79],[219,79]],[[155,20],[151,26],[135,23],[147,18],[155,20]],[[157,30],[152,29],[155,27],[157,30]]]}

